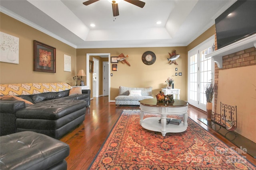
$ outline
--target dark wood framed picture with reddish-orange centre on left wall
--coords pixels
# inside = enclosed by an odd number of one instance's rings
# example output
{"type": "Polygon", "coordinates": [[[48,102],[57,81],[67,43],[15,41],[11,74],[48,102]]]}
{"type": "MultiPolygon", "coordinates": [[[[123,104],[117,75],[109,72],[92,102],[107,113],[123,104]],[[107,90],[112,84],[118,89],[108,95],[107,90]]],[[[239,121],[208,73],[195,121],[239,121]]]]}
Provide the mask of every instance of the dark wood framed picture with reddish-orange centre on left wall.
{"type": "Polygon", "coordinates": [[[56,48],[34,40],[34,71],[56,72],[56,48]]]}

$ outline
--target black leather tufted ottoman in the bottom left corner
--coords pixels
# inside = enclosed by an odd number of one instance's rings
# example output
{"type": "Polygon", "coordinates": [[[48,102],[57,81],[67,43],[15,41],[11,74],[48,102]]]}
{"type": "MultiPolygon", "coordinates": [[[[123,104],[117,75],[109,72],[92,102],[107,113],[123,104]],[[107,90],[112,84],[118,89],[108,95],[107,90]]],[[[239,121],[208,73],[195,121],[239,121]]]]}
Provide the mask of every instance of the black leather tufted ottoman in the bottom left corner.
{"type": "Polygon", "coordinates": [[[0,137],[1,170],[66,170],[66,143],[32,131],[0,137]]]}

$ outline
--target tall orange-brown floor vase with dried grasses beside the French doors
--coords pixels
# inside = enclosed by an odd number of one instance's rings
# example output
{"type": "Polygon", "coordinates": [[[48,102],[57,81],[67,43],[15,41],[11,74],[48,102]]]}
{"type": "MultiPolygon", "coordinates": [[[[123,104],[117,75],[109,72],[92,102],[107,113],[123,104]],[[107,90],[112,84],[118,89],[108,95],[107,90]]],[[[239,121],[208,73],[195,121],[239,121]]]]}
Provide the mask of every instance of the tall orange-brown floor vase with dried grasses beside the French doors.
{"type": "Polygon", "coordinates": [[[212,82],[206,84],[205,95],[206,95],[207,120],[211,120],[211,117],[212,117],[212,99],[214,97],[214,84],[212,82]]]}

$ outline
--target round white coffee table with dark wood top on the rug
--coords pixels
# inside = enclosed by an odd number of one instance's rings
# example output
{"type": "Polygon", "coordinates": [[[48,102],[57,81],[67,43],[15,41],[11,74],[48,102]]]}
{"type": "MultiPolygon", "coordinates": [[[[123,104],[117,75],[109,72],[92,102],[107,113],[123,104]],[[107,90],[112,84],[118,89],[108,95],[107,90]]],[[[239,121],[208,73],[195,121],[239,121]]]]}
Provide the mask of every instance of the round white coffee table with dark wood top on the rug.
{"type": "Polygon", "coordinates": [[[174,99],[174,102],[157,102],[154,99],[144,99],[140,101],[140,125],[150,131],[161,132],[162,136],[166,133],[178,133],[186,131],[188,127],[188,102],[174,99]],[[144,119],[144,113],[154,113],[161,115],[161,123],[158,123],[160,117],[148,117],[144,119]],[[184,121],[180,125],[166,125],[167,115],[183,115],[184,121]]]}

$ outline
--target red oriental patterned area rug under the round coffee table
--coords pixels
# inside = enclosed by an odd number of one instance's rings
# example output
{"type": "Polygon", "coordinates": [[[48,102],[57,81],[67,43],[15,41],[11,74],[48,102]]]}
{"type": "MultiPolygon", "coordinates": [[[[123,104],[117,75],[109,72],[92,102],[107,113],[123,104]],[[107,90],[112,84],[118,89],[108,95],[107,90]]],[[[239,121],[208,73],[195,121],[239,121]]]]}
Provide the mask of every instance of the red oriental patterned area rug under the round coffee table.
{"type": "MultiPolygon", "coordinates": [[[[139,113],[123,111],[90,170],[256,169],[190,118],[186,131],[163,137],[160,132],[141,127],[139,113]]],[[[144,118],[153,116],[160,117],[144,113],[144,118]]]]}

